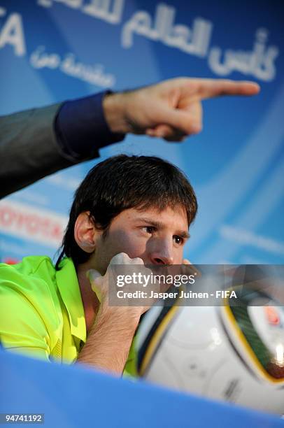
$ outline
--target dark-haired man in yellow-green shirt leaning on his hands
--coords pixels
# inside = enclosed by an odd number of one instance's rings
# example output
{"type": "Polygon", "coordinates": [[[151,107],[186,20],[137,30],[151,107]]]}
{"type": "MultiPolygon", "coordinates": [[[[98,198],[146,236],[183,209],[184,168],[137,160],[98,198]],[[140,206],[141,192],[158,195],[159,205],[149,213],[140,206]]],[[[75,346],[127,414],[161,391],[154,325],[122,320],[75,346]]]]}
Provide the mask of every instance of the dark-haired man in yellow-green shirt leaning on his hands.
{"type": "Polygon", "coordinates": [[[3,345],[122,373],[145,307],[108,305],[108,266],[182,264],[196,212],[192,186],[169,162],[119,155],[94,166],[76,191],[56,267],[48,257],[1,265],[3,345]]]}

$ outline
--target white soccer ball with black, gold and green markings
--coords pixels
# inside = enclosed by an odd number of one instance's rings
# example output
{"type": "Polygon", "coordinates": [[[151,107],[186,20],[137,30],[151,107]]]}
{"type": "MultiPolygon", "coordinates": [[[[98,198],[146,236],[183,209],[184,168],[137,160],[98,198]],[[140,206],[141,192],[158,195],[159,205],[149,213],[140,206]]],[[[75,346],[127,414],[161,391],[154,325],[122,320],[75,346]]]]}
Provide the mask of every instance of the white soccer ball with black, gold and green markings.
{"type": "Polygon", "coordinates": [[[238,306],[151,308],[136,335],[139,375],[176,390],[283,414],[284,310],[269,299],[267,304],[267,296],[254,292],[238,306]],[[254,301],[266,305],[253,306],[254,301]]]}

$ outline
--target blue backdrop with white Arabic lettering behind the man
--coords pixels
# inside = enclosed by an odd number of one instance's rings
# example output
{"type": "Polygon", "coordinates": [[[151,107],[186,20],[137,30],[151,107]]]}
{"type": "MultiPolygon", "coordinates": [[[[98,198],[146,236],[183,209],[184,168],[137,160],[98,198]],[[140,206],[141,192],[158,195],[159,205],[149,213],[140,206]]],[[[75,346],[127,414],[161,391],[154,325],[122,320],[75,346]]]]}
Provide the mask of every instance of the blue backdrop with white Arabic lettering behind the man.
{"type": "MultiPolygon", "coordinates": [[[[204,131],[185,143],[129,135],[101,150],[158,155],[189,176],[199,214],[195,263],[284,262],[282,2],[0,0],[0,113],[175,76],[255,80],[253,98],[204,103],[204,131]]],[[[95,162],[0,202],[0,257],[59,246],[73,191],[95,162]]]]}

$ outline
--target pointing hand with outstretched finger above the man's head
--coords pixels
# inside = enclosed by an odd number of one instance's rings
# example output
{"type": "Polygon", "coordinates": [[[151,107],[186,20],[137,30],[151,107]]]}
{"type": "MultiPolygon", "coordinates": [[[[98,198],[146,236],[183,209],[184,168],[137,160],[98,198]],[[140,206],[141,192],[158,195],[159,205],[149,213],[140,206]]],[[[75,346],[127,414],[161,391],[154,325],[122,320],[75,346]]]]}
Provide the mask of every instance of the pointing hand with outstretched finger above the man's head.
{"type": "Polygon", "coordinates": [[[253,82],[174,78],[139,90],[111,94],[104,100],[104,109],[112,131],[183,141],[201,131],[204,99],[250,96],[259,91],[259,85],[253,82]]]}

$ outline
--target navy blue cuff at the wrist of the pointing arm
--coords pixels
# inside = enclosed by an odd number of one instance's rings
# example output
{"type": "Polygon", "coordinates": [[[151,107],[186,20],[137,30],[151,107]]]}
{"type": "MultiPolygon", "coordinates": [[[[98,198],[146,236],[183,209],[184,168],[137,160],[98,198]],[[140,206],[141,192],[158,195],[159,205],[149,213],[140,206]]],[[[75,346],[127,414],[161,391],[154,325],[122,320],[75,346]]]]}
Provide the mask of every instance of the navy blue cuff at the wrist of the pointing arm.
{"type": "Polygon", "coordinates": [[[61,150],[74,161],[97,156],[99,148],[118,143],[125,134],[111,132],[104,117],[106,94],[66,101],[55,117],[55,134],[61,150]]]}

